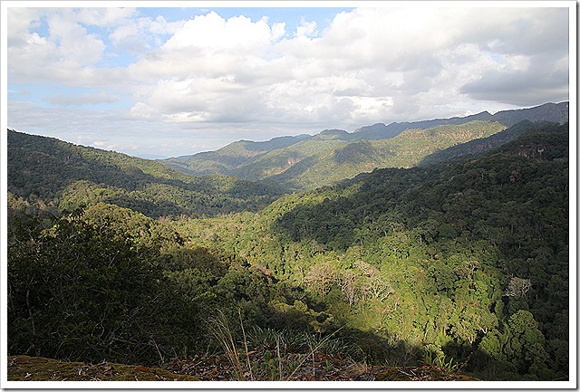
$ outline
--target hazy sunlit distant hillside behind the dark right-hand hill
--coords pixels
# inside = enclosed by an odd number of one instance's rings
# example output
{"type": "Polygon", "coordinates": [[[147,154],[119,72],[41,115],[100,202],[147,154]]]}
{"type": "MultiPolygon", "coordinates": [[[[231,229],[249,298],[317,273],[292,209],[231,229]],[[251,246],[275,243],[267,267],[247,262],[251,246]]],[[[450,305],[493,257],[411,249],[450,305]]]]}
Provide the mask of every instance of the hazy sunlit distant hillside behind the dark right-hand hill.
{"type": "MultiPolygon", "coordinates": [[[[331,185],[375,167],[411,167],[421,158],[441,148],[496,133],[504,127],[498,122],[471,121],[462,125],[430,129],[407,129],[391,139],[350,141],[347,132],[325,130],[285,148],[256,154],[247,161],[223,170],[228,176],[267,183],[295,190],[331,185]]],[[[229,150],[229,145],[225,150],[229,150]]],[[[223,152],[218,150],[219,154],[223,152]]],[[[189,162],[205,167],[204,156],[189,162]]],[[[172,162],[175,162],[174,160],[172,162]]],[[[208,162],[209,165],[213,163],[208,162]]],[[[189,165],[189,164],[188,164],[189,165]]],[[[176,167],[172,163],[173,167],[176,167]]],[[[195,173],[188,166],[189,173],[195,173]]]]}

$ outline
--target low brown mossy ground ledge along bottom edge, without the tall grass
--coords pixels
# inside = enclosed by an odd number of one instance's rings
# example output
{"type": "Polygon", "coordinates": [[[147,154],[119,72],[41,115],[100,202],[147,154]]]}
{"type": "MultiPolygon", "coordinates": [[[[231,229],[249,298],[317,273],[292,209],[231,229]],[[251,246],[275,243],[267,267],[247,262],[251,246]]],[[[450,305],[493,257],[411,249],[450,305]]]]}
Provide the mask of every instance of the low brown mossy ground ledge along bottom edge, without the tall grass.
{"type": "Polygon", "coordinates": [[[290,354],[287,359],[265,352],[247,359],[254,370],[238,378],[224,355],[175,359],[161,368],[103,361],[65,362],[42,357],[8,357],[9,381],[477,381],[434,365],[420,367],[367,366],[332,355],[290,354]],[[278,361],[280,362],[278,364],[278,361]]]}

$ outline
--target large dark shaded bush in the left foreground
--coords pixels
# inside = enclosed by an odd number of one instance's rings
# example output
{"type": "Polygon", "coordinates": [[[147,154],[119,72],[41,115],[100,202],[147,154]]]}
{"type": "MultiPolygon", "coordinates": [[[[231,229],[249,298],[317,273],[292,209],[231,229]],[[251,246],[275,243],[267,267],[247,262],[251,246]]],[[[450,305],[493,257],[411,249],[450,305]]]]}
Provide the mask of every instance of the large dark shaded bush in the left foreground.
{"type": "Polygon", "coordinates": [[[188,337],[187,301],[160,251],[119,227],[68,215],[8,250],[8,350],[53,358],[163,360],[188,337]],[[185,323],[184,323],[185,322],[185,323]]]}

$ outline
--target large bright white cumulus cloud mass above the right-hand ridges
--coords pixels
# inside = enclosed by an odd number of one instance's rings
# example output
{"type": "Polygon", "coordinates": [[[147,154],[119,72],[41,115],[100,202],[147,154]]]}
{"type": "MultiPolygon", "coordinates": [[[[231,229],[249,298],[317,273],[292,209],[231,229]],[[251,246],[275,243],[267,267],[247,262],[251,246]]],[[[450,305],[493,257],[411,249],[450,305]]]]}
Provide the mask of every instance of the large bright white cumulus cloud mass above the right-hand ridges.
{"type": "MultiPolygon", "coordinates": [[[[537,40],[540,52],[555,53],[557,46],[565,53],[567,39],[560,30],[566,29],[555,23],[566,17],[539,9],[361,8],[337,14],[323,34],[303,20],[292,38],[279,40],[266,20],[226,20],[212,12],[189,20],[134,69],[170,76],[156,84],[145,103],[171,121],[227,118],[314,126],[333,120],[340,127],[409,115],[411,110],[397,111],[409,100],[419,108],[409,120],[420,120],[449,114],[444,111],[449,106],[437,102],[443,98],[440,91],[459,106],[466,95],[493,100],[485,88],[479,95],[474,91],[496,73],[536,78],[530,45],[537,40]],[[563,41],[546,45],[546,35],[563,41]]],[[[558,60],[542,62],[550,68],[558,60]]],[[[547,76],[544,83],[553,84],[547,76]]],[[[521,104],[516,96],[529,88],[524,83],[510,87],[519,87],[511,93],[514,99],[506,92],[497,101],[521,104]]],[[[537,100],[541,94],[526,103],[542,103],[537,100]]]]}

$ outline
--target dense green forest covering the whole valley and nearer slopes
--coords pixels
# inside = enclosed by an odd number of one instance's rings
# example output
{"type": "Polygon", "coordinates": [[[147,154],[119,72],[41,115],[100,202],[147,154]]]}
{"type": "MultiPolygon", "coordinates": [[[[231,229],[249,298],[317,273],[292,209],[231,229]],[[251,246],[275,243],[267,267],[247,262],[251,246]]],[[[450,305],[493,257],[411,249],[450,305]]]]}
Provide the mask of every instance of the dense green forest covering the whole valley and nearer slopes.
{"type": "Polygon", "coordinates": [[[221,352],[238,379],[278,379],[287,353],[318,350],[567,379],[568,132],[520,122],[483,147],[289,193],[9,131],[8,351],[221,352]]]}

